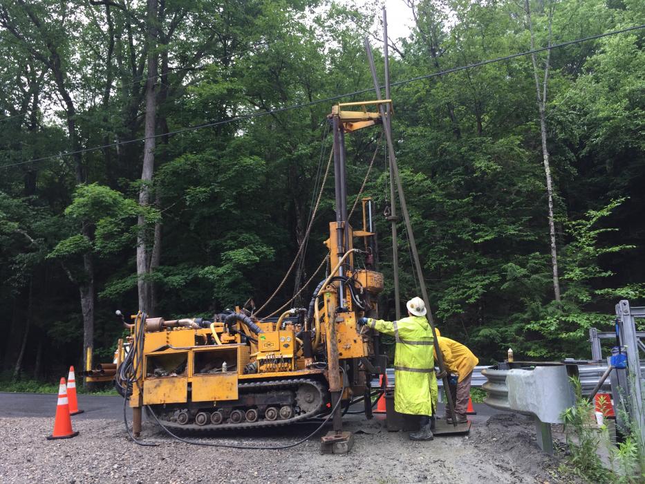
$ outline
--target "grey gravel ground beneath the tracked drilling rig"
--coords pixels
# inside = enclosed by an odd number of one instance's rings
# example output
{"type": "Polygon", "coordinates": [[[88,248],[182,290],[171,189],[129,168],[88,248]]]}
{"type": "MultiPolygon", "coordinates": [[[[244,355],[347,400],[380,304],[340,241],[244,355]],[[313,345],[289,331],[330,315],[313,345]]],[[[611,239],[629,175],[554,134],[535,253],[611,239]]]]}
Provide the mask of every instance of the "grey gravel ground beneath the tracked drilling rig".
{"type": "MultiPolygon", "coordinates": [[[[319,438],[286,450],[197,447],[172,440],[151,422],[130,442],[122,421],[73,420],[80,435],[46,440],[51,418],[0,419],[2,483],[562,483],[560,458],[545,456],[535,443],[532,422],[501,413],[477,423],[469,436],[411,442],[382,429],[382,420],[348,416],[355,445],[344,456],[319,453],[319,438]],[[363,431],[368,433],[364,433],[363,431]]],[[[223,434],[211,443],[284,444],[315,427],[290,427],[269,434],[223,434]]]]}

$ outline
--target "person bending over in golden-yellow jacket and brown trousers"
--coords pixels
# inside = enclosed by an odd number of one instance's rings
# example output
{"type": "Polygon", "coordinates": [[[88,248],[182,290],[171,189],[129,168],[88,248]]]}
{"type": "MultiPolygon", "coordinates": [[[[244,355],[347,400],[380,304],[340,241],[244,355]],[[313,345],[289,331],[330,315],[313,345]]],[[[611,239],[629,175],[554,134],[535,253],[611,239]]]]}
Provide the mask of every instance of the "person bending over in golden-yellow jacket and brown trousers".
{"type": "MultiPolygon", "coordinates": [[[[479,363],[478,358],[466,346],[456,342],[454,339],[442,337],[437,330],[439,348],[443,356],[446,371],[456,375],[456,382],[450,382],[450,393],[455,405],[457,422],[467,422],[466,411],[470,398],[470,380],[473,376],[473,369],[479,363]]],[[[436,351],[435,351],[436,354],[436,351]]],[[[449,380],[451,380],[449,378],[449,380]]],[[[450,410],[446,407],[446,418],[452,423],[450,410]]]]}

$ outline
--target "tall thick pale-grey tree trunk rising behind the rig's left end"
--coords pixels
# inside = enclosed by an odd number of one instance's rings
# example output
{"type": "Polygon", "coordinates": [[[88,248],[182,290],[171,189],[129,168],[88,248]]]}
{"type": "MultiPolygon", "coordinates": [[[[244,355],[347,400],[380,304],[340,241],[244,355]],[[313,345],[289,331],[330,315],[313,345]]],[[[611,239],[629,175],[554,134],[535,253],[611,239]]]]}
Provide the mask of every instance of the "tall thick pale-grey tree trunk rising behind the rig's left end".
{"type": "MultiPolygon", "coordinates": [[[[156,84],[157,84],[157,53],[156,53],[156,21],[157,21],[157,0],[147,0],[147,26],[148,26],[148,80],[146,82],[146,115],[145,115],[145,142],[143,153],[143,167],[141,170],[141,190],[139,192],[139,205],[146,207],[150,202],[150,183],[155,163],[156,140],[156,84]]],[[[147,310],[149,301],[149,284],[147,274],[149,272],[147,236],[145,230],[145,217],[138,218],[137,236],[137,288],[139,294],[139,309],[147,310]]]]}

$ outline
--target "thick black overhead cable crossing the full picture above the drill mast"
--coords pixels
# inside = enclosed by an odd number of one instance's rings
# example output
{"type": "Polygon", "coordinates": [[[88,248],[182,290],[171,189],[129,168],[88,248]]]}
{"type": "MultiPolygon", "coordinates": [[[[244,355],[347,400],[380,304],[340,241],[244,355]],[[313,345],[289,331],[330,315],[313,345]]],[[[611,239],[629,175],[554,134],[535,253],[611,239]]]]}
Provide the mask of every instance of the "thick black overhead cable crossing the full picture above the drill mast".
{"type": "MultiPolygon", "coordinates": [[[[612,32],[606,32],[604,34],[591,35],[590,37],[583,37],[581,39],[570,40],[570,41],[562,42],[561,44],[554,44],[552,46],[541,47],[541,48],[537,48],[537,49],[533,49],[533,50],[525,50],[524,52],[510,54],[510,55],[504,55],[503,57],[495,57],[493,59],[487,59],[487,60],[480,61],[480,62],[474,62],[472,64],[467,64],[465,66],[453,67],[453,68],[445,69],[445,71],[438,71],[436,73],[430,73],[430,74],[420,75],[418,77],[412,77],[411,79],[406,79],[406,80],[397,81],[397,82],[391,82],[390,85],[391,86],[402,86],[404,84],[409,84],[411,82],[418,82],[420,80],[431,79],[432,77],[438,77],[438,76],[441,76],[441,75],[456,73],[458,71],[465,71],[466,69],[485,66],[487,64],[493,64],[495,62],[503,62],[505,60],[515,59],[516,57],[523,57],[525,55],[531,55],[531,54],[544,52],[545,50],[551,50],[551,49],[554,49],[554,48],[561,48],[561,47],[570,46],[570,45],[573,45],[573,44],[580,44],[581,42],[586,42],[586,41],[595,40],[595,39],[601,39],[603,37],[609,37],[610,35],[622,34],[622,33],[625,33],[625,32],[631,32],[633,30],[640,30],[642,28],[645,28],[645,24],[642,24],[642,25],[639,25],[639,26],[632,26],[632,27],[628,27],[628,28],[623,28],[621,30],[613,30],[612,32]]],[[[381,89],[384,89],[384,86],[381,86],[381,89]]],[[[20,165],[27,165],[28,163],[36,163],[36,162],[41,162],[41,161],[46,161],[46,160],[52,160],[54,158],[61,158],[63,156],[73,156],[73,155],[77,155],[77,154],[80,154],[80,153],[88,153],[90,151],[97,151],[97,150],[100,150],[100,149],[106,149],[106,148],[117,147],[117,146],[122,146],[122,145],[129,145],[130,143],[145,141],[148,138],[160,138],[162,136],[174,136],[176,134],[186,133],[188,131],[196,131],[198,129],[221,126],[222,124],[228,124],[230,122],[245,121],[245,120],[250,120],[250,119],[253,119],[253,118],[261,118],[262,116],[266,116],[266,115],[270,115],[270,114],[284,113],[286,111],[292,111],[294,109],[302,109],[302,108],[306,108],[306,107],[309,107],[309,106],[315,106],[317,104],[321,104],[321,103],[324,103],[324,102],[336,101],[336,100],[342,99],[344,97],[350,97],[350,96],[354,96],[354,95],[358,95],[358,94],[369,93],[369,92],[372,92],[372,91],[373,91],[373,88],[361,89],[359,91],[354,91],[353,93],[345,93],[345,94],[334,95],[334,96],[325,97],[324,99],[319,99],[319,100],[315,100],[315,101],[311,101],[311,102],[303,102],[301,104],[294,104],[292,106],[285,106],[283,108],[271,109],[271,110],[268,110],[268,111],[258,111],[256,113],[250,113],[250,114],[235,116],[234,118],[228,118],[228,119],[225,119],[225,120],[220,120],[220,121],[215,121],[215,122],[207,122],[207,123],[204,123],[204,124],[197,124],[196,126],[176,129],[175,131],[170,131],[169,133],[160,133],[160,134],[156,134],[154,136],[149,136],[147,138],[144,137],[144,138],[136,138],[134,140],[124,140],[124,141],[120,141],[120,142],[109,143],[107,145],[100,145],[100,146],[91,147],[91,148],[79,149],[79,150],[76,150],[76,151],[66,151],[64,153],[58,153],[58,154],[51,155],[51,156],[44,156],[42,158],[34,158],[32,160],[20,161],[20,162],[16,162],[16,163],[11,163],[10,165],[3,165],[0,168],[17,167],[17,166],[20,166],[20,165]]]]}

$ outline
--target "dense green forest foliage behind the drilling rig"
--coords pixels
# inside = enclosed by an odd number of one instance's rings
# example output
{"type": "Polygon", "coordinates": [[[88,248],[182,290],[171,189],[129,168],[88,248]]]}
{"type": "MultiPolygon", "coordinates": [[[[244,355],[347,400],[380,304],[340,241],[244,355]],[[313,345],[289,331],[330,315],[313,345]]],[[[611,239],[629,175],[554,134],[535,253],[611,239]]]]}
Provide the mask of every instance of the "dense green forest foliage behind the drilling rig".
{"type": "MultiPolygon", "coordinates": [[[[391,39],[393,81],[529,50],[527,8],[538,47],[645,24],[639,0],[400,8],[413,9],[414,25],[391,39]]],[[[382,75],[379,15],[372,3],[329,0],[0,0],[3,369],[47,377],[81,362],[88,345],[109,358],[122,333],[114,310],[136,312],[138,279],[167,318],[248,299],[261,306],[303,241],[328,159],[333,102],[312,102],[372,85],[366,36],[382,75]],[[147,128],[151,180],[142,179],[147,128]],[[149,257],[139,275],[138,243],[149,257]]],[[[550,53],[561,301],[531,57],[393,87],[395,149],[431,306],[442,333],[482,364],[509,347],[517,359],[590,357],[589,327],[610,330],[619,299],[645,303],[644,43],[645,29],[632,30],[550,53]]],[[[380,311],[393,317],[379,139],[377,128],[346,136],[348,205],[376,152],[364,195],[377,208],[380,311]]],[[[332,170],[303,262],[265,314],[325,256],[333,200],[332,170]]],[[[398,228],[406,300],[418,288],[398,228]]]]}

